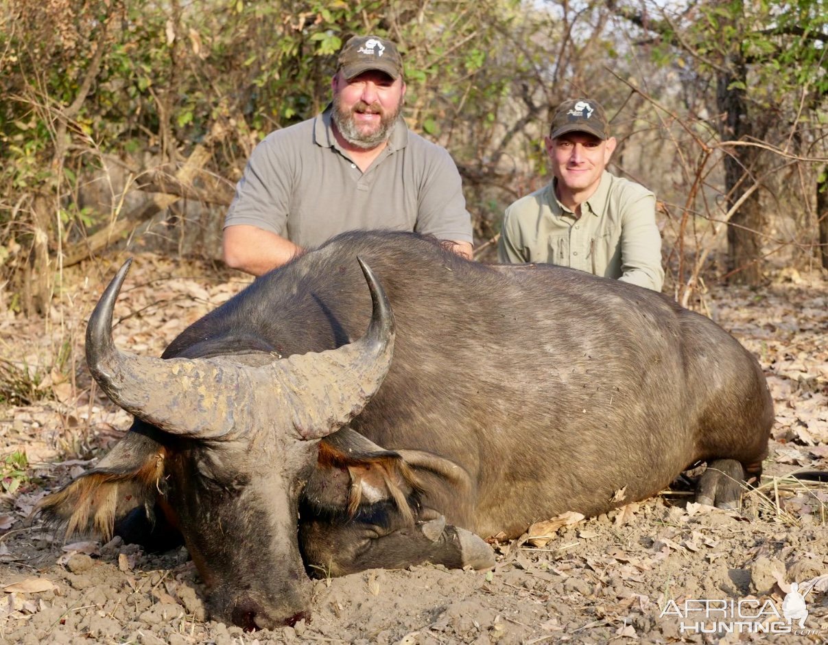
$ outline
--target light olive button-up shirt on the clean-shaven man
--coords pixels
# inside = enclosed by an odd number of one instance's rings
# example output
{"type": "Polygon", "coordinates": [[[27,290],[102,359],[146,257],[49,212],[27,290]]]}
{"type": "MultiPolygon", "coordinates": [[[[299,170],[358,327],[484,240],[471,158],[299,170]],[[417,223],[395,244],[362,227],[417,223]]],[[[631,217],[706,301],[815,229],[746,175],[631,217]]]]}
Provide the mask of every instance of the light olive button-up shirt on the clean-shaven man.
{"type": "Polygon", "coordinates": [[[661,291],[662,238],[656,197],[607,171],[580,218],[555,196],[554,181],[506,209],[500,262],[548,262],[661,291]]]}

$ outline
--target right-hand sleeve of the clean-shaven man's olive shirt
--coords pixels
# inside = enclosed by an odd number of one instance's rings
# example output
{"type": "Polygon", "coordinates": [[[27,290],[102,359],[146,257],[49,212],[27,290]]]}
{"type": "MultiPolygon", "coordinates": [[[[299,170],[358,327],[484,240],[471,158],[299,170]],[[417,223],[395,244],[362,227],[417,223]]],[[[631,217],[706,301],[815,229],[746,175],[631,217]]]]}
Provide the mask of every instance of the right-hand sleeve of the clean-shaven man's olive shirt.
{"type": "Polygon", "coordinates": [[[624,208],[621,271],[622,282],[662,291],[662,236],[656,224],[656,197],[650,192],[624,208]]]}

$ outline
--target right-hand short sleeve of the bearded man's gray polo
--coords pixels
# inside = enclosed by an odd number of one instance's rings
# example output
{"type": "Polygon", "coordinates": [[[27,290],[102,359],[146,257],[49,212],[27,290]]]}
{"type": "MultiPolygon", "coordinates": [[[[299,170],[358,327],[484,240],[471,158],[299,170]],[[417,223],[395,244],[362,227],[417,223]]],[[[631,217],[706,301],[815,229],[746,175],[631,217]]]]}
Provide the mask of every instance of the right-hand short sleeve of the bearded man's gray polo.
{"type": "Polygon", "coordinates": [[[437,239],[473,243],[460,172],[445,148],[431,145],[432,161],[417,198],[414,230],[437,239]]]}

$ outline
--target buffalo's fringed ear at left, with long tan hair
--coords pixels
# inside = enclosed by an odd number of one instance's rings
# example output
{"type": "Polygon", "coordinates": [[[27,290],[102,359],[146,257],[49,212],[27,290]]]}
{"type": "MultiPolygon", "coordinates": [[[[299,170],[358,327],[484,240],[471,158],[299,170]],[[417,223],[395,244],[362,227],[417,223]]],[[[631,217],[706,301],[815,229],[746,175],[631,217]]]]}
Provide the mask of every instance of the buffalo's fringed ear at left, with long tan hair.
{"type": "Polygon", "coordinates": [[[165,450],[147,448],[146,437],[129,432],[98,468],[80,475],[57,493],[41,499],[32,511],[47,526],[72,535],[113,536],[115,519],[155,498],[164,471],[165,450]]]}

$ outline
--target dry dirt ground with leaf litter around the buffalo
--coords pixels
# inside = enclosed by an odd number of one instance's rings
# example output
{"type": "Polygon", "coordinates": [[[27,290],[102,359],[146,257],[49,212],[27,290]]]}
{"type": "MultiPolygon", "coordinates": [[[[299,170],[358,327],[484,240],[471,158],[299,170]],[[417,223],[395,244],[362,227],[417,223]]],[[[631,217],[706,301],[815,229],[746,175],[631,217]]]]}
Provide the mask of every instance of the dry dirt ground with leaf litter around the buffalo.
{"type": "MultiPolygon", "coordinates": [[[[20,370],[20,389],[37,381],[32,396],[0,404],[0,642],[828,643],[828,484],[784,476],[828,469],[824,277],[787,271],[761,290],[705,295],[707,313],[758,356],[777,406],[766,475],[739,512],[692,503],[677,484],[608,515],[561,518],[546,537],[498,544],[493,570],[426,565],[319,580],[309,622],[246,633],[206,619],[185,550],[152,555],[118,538],[64,544],[26,523],[129,424],[94,393],[82,362],[84,317],[107,269],[67,275],[66,305],[49,325],[0,306],[0,364],[6,376],[20,370]],[[15,469],[7,458],[23,450],[28,465],[15,469]],[[805,594],[804,628],[782,618],[792,582],[805,594]]],[[[144,254],[116,307],[116,343],[158,354],[242,287],[144,254]]]]}

